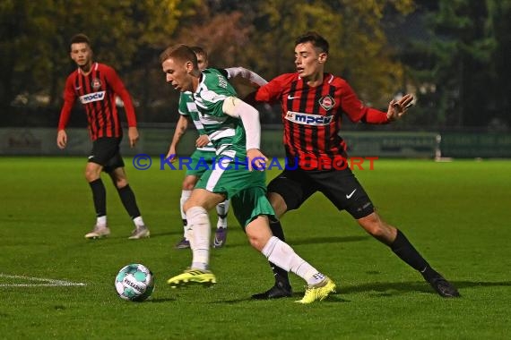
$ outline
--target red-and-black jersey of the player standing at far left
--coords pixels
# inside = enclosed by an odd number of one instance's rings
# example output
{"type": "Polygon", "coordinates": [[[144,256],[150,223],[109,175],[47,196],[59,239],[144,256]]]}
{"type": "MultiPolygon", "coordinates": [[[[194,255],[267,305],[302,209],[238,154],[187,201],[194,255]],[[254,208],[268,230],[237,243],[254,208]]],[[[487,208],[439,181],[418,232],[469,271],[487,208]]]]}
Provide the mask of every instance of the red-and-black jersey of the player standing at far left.
{"type": "Polygon", "coordinates": [[[85,107],[91,140],[121,137],[123,132],[117,114],[116,95],[124,102],[128,126],[136,126],[133,102],[117,72],[99,63],[92,64],[91,72],[87,75],[78,68],[65,81],[64,106],[58,130],[65,129],[78,98],[85,107]]]}

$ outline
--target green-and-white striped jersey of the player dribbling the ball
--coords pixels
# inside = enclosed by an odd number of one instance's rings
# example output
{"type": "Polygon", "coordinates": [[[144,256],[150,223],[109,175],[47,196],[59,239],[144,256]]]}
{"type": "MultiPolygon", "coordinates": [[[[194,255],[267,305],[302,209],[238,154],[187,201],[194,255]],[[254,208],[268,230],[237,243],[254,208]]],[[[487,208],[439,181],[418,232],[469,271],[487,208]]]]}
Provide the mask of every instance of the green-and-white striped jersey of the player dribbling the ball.
{"type": "Polygon", "coordinates": [[[222,110],[224,100],[230,97],[238,97],[238,94],[226,77],[217,69],[205,69],[193,93],[202,128],[217,155],[246,157],[246,133],[241,119],[226,115],[222,110]]]}

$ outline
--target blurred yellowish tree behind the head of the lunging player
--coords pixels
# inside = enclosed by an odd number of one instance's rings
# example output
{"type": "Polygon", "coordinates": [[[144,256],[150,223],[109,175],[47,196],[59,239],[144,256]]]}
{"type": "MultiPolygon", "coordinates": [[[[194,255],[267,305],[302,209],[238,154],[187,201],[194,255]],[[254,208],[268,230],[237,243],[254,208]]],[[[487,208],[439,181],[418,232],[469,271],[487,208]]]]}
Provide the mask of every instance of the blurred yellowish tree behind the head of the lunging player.
{"type": "Polygon", "coordinates": [[[268,78],[294,72],[294,40],[316,30],[330,43],[327,72],[340,75],[369,104],[386,106],[400,89],[402,67],[393,59],[382,21],[386,7],[395,15],[413,10],[412,0],[289,2],[259,1],[252,45],[259,50],[260,67],[268,78]]]}

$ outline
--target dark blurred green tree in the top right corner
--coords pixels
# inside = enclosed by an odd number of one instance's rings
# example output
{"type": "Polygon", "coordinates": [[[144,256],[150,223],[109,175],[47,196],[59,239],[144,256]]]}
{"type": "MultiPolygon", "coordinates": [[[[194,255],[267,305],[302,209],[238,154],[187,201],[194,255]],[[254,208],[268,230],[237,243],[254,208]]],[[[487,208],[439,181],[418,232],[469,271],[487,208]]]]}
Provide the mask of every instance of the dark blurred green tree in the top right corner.
{"type": "Polygon", "coordinates": [[[438,0],[427,10],[428,38],[415,41],[406,58],[427,114],[421,122],[485,126],[497,118],[509,123],[511,1],[438,0]]]}

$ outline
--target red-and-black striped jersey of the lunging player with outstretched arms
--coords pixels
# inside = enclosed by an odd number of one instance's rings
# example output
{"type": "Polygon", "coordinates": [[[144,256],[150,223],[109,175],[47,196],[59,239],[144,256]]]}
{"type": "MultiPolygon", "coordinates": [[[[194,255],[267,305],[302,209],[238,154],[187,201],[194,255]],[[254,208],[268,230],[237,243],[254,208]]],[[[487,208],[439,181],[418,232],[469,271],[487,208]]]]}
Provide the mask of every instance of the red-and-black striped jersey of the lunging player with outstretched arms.
{"type": "Polygon", "coordinates": [[[352,122],[388,122],[384,112],[364,106],[348,82],[329,73],[316,87],[298,73],[282,74],[259,88],[255,101],[281,103],[286,156],[298,157],[299,166],[307,159],[346,157],[346,144],[338,134],[342,114],[352,122]]]}

